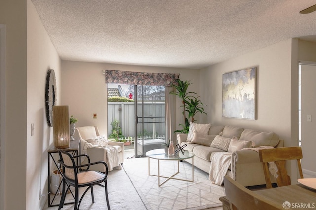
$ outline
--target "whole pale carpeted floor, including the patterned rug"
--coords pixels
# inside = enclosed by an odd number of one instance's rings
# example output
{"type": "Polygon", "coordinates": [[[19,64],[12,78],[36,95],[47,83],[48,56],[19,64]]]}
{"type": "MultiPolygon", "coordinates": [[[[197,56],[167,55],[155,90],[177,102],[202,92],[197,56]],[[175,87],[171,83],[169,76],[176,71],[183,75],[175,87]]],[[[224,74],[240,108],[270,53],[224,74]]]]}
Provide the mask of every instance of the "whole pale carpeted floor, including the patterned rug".
{"type": "MultiPolygon", "coordinates": [[[[177,170],[176,161],[160,161],[161,175],[173,174],[177,170]]],[[[151,159],[151,174],[158,174],[158,161],[151,159]],[[156,162],[155,162],[156,161],[156,162]]],[[[192,178],[191,164],[180,162],[177,178],[192,178]]],[[[163,181],[161,178],[160,182],[163,181]]],[[[83,193],[84,190],[80,190],[83,193]]],[[[148,158],[125,159],[121,170],[113,170],[108,176],[108,193],[112,210],[218,210],[219,197],[225,195],[224,188],[210,184],[208,173],[194,168],[194,182],[169,180],[158,187],[158,177],[148,175],[148,158]]],[[[52,195],[53,196],[53,195],[52,195]]],[[[57,196],[54,204],[59,203],[57,196]]],[[[102,187],[94,187],[95,203],[88,192],[80,205],[81,210],[106,210],[105,192],[102,187]]],[[[71,194],[67,195],[71,201],[71,194]]],[[[62,210],[74,209],[73,204],[64,205],[62,210]]],[[[44,210],[58,210],[58,206],[44,210]]]]}

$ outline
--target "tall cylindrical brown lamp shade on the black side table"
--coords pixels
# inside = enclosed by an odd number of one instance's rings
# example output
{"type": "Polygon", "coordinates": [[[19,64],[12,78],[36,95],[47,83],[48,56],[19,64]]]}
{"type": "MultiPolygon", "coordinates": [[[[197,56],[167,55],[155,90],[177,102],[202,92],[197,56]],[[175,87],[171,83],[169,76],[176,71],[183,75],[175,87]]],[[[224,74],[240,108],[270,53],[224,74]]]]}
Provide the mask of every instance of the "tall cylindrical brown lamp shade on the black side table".
{"type": "Polygon", "coordinates": [[[53,106],[54,146],[57,149],[70,147],[69,107],[53,106]]]}

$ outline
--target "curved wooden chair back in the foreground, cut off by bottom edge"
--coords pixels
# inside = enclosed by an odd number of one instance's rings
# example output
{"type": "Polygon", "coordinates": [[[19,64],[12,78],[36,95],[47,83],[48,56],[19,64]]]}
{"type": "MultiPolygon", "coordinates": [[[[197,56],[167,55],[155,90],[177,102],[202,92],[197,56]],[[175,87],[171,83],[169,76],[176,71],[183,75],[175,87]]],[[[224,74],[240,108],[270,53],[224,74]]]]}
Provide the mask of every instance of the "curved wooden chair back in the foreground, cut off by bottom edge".
{"type": "Polygon", "coordinates": [[[225,198],[229,201],[230,210],[284,210],[282,203],[274,203],[224,176],[225,198]]]}

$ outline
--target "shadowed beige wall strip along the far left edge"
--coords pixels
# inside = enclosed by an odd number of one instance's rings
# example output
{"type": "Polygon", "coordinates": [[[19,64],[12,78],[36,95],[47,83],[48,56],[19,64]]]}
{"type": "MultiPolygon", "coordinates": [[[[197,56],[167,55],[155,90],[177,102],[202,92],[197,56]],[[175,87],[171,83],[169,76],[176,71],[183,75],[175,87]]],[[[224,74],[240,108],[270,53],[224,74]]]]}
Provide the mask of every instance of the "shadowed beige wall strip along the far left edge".
{"type": "Polygon", "coordinates": [[[27,191],[26,1],[1,0],[0,23],[6,27],[6,60],[1,61],[6,66],[5,90],[1,89],[1,97],[5,94],[1,109],[5,108],[6,118],[1,115],[0,209],[23,210],[27,191]]]}

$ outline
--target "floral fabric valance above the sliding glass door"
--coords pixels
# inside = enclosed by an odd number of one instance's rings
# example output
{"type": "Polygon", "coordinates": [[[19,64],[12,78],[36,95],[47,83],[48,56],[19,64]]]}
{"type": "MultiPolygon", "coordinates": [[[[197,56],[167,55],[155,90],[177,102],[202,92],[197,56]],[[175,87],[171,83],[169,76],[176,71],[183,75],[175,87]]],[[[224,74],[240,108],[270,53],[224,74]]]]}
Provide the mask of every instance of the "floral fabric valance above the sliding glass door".
{"type": "Polygon", "coordinates": [[[172,86],[177,84],[179,75],[180,74],[172,73],[142,73],[120,70],[105,70],[105,83],[172,86]]]}

